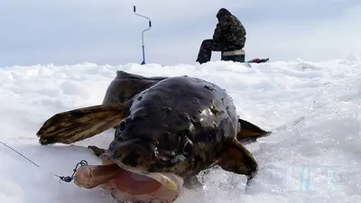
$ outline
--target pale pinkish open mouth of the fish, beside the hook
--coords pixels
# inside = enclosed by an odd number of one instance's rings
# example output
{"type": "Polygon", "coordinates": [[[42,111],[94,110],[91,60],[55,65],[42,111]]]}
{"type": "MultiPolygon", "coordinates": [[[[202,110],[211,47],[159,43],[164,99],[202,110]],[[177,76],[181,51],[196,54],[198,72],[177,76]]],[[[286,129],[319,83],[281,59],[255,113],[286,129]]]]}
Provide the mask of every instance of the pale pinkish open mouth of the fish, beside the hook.
{"type": "Polygon", "coordinates": [[[80,167],[74,175],[74,183],[81,188],[101,186],[118,189],[130,195],[151,194],[161,187],[174,192],[180,190],[179,181],[173,174],[127,171],[113,161],[107,161],[103,165],[80,167]]]}

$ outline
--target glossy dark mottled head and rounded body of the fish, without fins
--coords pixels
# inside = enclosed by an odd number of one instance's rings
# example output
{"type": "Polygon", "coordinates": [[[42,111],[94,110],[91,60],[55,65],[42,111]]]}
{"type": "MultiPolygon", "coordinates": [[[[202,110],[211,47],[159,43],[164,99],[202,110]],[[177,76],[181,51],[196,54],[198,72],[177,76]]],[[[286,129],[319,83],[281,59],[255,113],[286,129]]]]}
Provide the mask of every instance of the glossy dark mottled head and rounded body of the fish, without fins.
{"type": "Polygon", "coordinates": [[[232,98],[200,78],[166,78],[132,99],[124,129],[108,149],[129,169],[187,179],[214,165],[238,131],[232,98]]]}

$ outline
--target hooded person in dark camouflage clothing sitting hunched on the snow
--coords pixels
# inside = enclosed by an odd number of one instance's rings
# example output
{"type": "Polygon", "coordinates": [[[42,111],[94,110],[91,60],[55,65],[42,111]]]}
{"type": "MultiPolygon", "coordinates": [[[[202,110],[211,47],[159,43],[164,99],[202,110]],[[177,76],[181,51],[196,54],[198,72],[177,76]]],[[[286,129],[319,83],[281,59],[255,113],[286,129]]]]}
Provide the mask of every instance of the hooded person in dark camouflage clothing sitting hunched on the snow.
{"type": "Polygon", "coordinates": [[[213,39],[204,40],[200,45],[197,62],[208,62],[212,51],[235,51],[245,46],[245,27],[235,15],[226,8],[219,9],[217,13],[218,24],[213,39]]]}

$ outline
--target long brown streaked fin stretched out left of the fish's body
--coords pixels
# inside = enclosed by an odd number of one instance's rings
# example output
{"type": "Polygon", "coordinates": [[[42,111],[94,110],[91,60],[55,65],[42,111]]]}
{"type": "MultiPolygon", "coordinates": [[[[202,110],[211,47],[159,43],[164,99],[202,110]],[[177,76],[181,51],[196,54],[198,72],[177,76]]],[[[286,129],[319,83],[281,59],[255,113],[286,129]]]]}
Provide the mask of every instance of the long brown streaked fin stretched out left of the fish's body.
{"type": "Polygon", "coordinates": [[[118,125],[128,114],[128,103],[88,106],[51,116],[39,129],[39,143],[75,143],[118,125]]]}

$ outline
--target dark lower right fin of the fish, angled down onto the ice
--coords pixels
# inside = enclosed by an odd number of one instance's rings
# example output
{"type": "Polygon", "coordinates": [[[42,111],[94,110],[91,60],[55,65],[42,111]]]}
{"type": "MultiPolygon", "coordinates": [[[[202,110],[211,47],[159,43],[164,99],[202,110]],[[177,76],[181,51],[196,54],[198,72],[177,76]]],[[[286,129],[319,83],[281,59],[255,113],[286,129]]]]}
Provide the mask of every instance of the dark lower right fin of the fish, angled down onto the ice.
{"type": "Polygon", "coordinates": [[[255,175],[258,164],[255,158],[236,138],[225,146],[225,151],[218,157],[218,166],[225,171],[247,176],[255,175]]]}

